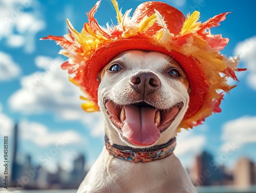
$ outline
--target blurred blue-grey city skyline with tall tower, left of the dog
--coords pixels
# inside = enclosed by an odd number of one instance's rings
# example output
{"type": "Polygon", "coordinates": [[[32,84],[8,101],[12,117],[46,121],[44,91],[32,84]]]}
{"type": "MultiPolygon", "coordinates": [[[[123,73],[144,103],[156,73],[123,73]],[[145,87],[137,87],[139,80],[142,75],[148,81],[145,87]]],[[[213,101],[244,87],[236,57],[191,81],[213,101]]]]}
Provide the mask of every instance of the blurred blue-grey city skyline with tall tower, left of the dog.
{"type": "MultiPolygon", "coordinates": [[[[57,171],[51,172],[47,170],[47,165],[43,162],[33,162],[32,155],[23,155],[18,151],[19,134],[18,123],[14,125],[13,133],[10,138],[13,138],[11,143],[8,144],[9,158],[11,167],[8,168],[8,188],[13,187],[13,190],[22,189],[76,189],[86,176],[86,157],[84,155],[78,155],[73,160],[73,169],[67,171],[61,168],[59,163],[57,171]],[[18,161],[18,155],[23,155],[24,160],[18,161]]],[[[20,149],[19,149],[20,150],[20,149]]],[[[0,175],[0,179],[4,179],[5,176],[0,175]]],[[[3,180],[1,180],[3,182],[3,180]]],[[[1,184],[0,187],[5,187],[1,184]]]]}

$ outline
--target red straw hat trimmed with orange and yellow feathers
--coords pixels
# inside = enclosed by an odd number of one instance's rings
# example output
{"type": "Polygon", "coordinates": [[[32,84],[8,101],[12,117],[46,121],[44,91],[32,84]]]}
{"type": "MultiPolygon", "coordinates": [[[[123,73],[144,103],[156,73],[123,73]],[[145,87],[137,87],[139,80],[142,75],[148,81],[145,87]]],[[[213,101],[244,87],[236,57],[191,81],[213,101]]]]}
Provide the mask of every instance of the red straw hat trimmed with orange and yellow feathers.
{"type": "Polygon", "coordinates": [[[179,128],[192,128],[201,124],[212,112],[221,112],[223,93],[234,85],[227,78],[237,80],[239,58],[222,55],[228,38],[213,35],[210,28],[219,26],[229,12],[221,13],[206,22],[199,22],[200,12],[185,17],[176,8],[162,2],[140,4],[133,16],[132,9],[124,14],[112,0],[117,13],[117,25],[101,27],[94,17],[100,1],[87,14],[81,32],[77,32],[67,19],[69,33],[65,36],[41,38],[55,40],[63,49],[60,54],[69,58],[61,65],[68,70],[69,79],[78,85],[86,97],[82,109],[99,111],[97,74],[116,55],[128,50],[157,51],[173,57],[185,71],[191,92],[188,110],[179,128]]]}

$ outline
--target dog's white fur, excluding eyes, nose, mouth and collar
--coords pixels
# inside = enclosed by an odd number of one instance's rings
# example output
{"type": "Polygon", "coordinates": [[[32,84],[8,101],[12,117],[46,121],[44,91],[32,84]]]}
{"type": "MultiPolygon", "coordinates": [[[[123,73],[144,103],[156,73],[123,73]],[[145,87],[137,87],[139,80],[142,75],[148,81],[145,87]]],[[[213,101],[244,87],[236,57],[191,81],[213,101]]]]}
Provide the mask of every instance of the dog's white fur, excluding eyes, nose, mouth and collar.
{"type": "MultiPolygon", "coordinates": [[[[177,135],[177,127],[188,108],[189,85],[185,73],[175,60],[158,52],[126,51],[105,66],[99,73],[99,79],[99,106],[104,115],[105,133],[111,144],[146,147],[136,146],[123,139],[120,128],[111,122],[106,113],[106,100],[112,100],[120,105],[144,100],[158,109],[169,109],[183,102],[183,108],[173,123],[161,133],[160,138],[153,145],[164,144],[177,135]],[[113,64],[119,64],[122,70],[117,73],[110,72],[109,69],[113,64]],[[176,78],[168,74],[174,68],[179,70],[180,77],[176,78]],[[140,71],[154,73],[159,78],[161,87],[157,92],[142,97],[131,87],[130,77],[140,71]]],[[[114,158],[104,147],[77,192],[191,193],[197,191],[174,154],[157,161],[134,163],[114,158]]]]}

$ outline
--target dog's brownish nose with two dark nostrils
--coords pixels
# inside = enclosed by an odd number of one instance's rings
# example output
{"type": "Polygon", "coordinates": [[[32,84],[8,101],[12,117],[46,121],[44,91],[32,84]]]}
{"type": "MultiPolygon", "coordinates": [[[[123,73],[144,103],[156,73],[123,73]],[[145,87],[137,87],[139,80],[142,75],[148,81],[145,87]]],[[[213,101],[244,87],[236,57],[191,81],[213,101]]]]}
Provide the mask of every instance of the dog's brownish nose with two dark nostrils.
{"type": "Polygon", "coordinates": [[[130,84],[135,91],[145,96],[158,90],[161,82],[153,72],[142,71],[130,77],[130,84]]]}

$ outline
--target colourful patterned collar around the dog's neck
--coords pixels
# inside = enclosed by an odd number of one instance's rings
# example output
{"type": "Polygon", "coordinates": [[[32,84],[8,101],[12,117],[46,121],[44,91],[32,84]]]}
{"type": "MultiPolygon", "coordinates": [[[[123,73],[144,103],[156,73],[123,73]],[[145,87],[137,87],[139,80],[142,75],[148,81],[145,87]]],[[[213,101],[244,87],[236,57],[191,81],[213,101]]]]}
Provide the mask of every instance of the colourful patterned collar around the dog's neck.
{"type": "Polygon", "coordinates": [[[167,143],[149,148],[132,148],[122,145],[111,145],[109,138],[105,136],[106,149],[110,155],[130,162],[150,162],[163,159],[174,152],[176,138],[169,140],[167,143]]]}

